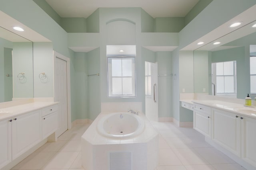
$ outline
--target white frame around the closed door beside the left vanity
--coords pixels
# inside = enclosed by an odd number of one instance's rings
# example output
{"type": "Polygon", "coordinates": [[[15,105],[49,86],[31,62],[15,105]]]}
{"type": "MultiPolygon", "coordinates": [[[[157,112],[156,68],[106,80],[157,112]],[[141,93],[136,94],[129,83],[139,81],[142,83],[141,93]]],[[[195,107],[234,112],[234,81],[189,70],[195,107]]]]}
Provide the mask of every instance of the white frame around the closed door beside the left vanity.
{"type": "MultiPolygon", "coordinates": [[[[54,56],[54,66],[55,66],[55,60],[56,58],[62,59],[67,62],[67,111],[68,111],[68,129],[72,128],[71,124],[71,95],[70,95],[70,58],[53,51],[53,56],[54,56]]],[[[55,76],[55,73],[54,73],[55,76]]],[[[54,86],[55,90],[55,86],[54,86]]],[[[54,93],[55,94],[55,93],[54,93]]],[[[56,102],[55,96],[54,96],[54,102],[56,102]]]]}

